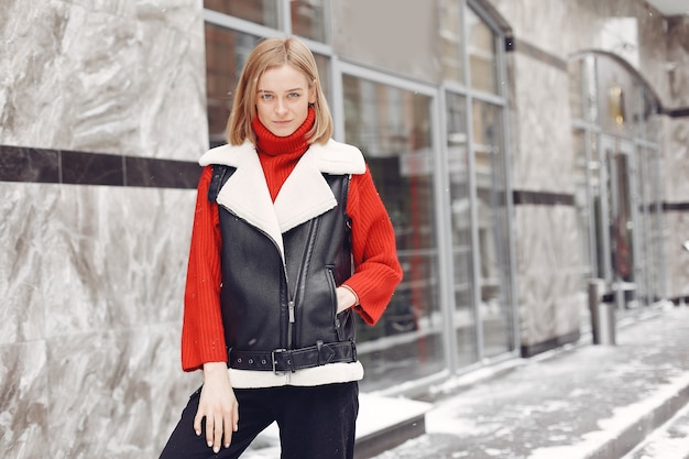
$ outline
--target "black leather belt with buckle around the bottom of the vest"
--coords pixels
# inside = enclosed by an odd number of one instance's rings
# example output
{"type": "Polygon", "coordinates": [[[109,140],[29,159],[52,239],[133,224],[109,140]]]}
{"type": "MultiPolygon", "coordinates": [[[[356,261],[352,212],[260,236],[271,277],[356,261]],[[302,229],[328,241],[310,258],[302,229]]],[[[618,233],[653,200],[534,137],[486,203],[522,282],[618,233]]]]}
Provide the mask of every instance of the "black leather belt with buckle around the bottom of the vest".
{"type": "Polygon", "coordinates": [[[272,371],[285,373],[337,362],[356,362],[354,341],[322,342],[300,349],[275,349],[273,351],[228,350],[228,365],[237,370],[272,371]]]}

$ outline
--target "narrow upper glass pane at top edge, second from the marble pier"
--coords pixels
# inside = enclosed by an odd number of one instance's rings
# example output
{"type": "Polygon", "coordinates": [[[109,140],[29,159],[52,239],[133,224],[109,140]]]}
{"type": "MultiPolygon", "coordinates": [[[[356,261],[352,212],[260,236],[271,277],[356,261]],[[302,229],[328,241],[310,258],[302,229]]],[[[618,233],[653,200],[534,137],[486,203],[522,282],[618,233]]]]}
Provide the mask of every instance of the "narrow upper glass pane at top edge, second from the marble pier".
{"type": "Polygon", "coordinates": [[[440,41],[442,43],[442,76],[448,81],[464,83],[464,46],[461,2],[440,2],[440,41]]]}

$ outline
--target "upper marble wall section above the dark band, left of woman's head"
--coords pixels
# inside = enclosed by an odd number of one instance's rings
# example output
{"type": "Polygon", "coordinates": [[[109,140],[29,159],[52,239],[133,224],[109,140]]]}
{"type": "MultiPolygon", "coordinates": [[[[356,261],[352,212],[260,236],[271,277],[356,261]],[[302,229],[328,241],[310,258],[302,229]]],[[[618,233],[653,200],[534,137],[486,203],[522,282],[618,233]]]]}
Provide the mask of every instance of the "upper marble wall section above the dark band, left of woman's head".
{"type": "Polygon", "coordinates": [[[195,0],[0,2],[10,19],[0,22],[2,143],[195,157],[207,142],[200,9],[195,0]]]}

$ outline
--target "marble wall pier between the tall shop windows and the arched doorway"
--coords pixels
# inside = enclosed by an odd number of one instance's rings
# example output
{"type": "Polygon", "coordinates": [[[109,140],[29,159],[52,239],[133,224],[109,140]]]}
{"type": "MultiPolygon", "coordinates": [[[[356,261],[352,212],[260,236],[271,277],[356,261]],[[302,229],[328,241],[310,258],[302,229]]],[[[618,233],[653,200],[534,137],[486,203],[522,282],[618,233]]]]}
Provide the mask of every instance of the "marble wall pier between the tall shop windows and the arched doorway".
{"type": "MultiPolygon", "coordinates": [[[[520,44],[512,68],[513,187],[544,196],[572,195],[573,174],[562,173],[573,164],[570,130],[561,129],[571,120],[566,64],[520,53],[520,44]]],[[[514,241],[522,348],[537,351],[543,343],[578,339],[583,305],[576,208],[517,203],[514,241]]]]}

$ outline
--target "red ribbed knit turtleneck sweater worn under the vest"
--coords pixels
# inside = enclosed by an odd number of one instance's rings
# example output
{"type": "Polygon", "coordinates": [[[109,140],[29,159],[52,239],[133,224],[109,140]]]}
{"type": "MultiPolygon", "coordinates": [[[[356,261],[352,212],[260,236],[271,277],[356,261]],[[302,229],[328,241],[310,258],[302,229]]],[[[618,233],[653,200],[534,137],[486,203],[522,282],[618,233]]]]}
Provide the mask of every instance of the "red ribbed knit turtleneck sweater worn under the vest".
{"type": "MultiPolygon", "coordinates": [[[[265,181],[275,200],[283,183],[294,170],[308,142],[304,136],[314,123],[314,112],[292,135],[273,135],[254,119],[256,151],[265,181]]],[[[220,315],[220,250],[222,240],[218,205],[207,199],[211,167],[201,173],[187,266],[182,367],[194,371],[206,362],[226,362],[227,350],[220,315]]],[[[395,237],[385,207],[371,174],[354,175],[350,183],[347,212],[352,219],[354,273],[346,282],[359,298],[356,312],[370,325],[382,316],[394,288],[402,280],[395,237]]]]}

